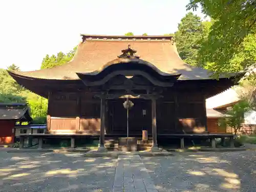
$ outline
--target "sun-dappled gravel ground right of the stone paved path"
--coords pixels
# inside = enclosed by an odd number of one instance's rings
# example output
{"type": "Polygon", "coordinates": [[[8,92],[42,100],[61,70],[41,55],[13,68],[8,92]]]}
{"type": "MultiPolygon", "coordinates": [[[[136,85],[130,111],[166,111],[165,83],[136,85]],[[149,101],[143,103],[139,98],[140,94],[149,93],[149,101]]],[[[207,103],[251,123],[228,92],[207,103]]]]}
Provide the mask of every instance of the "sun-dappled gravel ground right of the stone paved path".
{"type": "Polygon", "coordinates": [[[144,157],[159,192],[256,191],[256,152],[208,152],[144,157]]]}

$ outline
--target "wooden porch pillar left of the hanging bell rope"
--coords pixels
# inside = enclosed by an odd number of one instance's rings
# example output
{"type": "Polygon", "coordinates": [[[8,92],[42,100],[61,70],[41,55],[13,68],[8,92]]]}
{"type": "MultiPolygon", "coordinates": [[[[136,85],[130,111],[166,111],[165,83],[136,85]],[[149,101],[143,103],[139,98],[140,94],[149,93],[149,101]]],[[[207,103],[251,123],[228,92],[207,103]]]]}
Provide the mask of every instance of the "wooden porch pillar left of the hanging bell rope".
{"type": "Polygon", "coordinates": [[[100,136],[99,136],[99,147],[98,151],[106,151],[104,146],[105,142],[105,106],[106,99],[104,97],[100,100],[100,136]]]}

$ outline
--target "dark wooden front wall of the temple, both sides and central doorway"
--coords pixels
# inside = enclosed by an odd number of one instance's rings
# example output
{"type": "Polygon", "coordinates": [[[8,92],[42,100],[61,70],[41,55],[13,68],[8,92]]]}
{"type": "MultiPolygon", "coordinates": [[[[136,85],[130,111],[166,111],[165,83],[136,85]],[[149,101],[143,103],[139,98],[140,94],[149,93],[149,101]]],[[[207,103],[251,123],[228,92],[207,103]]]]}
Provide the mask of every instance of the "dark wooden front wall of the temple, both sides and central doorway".
{"type": "MultiPolygon", "coordinates": [[[[172,93],[173,96],[167,93],[163,95],[163,98],[156,101],[158,134],[206,131],[205,100],[200,92],[189,97],[182,96],[179,92],[172,93]]],[[[134,106],[129,112],[130,133],[141,134],[142,130],[148,130],[151,134],[151,100],[131,100],[134,106]]],[[[127,114],[123,107],[124,101],[125,98],[106,100],[106,134],[126,133],[127,114]]],[[[49,96],[47,119],[49,132],[99,134],[100,99],[80,92],[52,93],[49,96]]]]}

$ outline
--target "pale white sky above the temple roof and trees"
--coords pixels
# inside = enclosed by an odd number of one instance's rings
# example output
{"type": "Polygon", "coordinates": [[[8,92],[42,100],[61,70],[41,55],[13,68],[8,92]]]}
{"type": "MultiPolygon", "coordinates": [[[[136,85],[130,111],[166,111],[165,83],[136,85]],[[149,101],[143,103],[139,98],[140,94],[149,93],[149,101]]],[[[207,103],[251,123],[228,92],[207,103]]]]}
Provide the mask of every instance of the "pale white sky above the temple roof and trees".
{"type": "MultiPolygon", "coordinates": [[[[68,52],[80,33],[162,35],[177,30],[189,0],[0,1],[0,68],[38,70],[46,54],[68,52]]],[[[200,10],[195,12],[203,17],[200,10]]]]}

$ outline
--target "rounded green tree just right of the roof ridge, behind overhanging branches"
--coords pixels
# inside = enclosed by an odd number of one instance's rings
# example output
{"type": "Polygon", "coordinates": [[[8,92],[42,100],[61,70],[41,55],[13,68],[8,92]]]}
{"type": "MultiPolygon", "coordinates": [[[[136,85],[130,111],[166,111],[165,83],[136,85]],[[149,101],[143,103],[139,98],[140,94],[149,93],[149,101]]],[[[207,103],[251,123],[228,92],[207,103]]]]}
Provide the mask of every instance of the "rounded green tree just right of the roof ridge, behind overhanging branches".
{"type": "Polygon", "coordinates": [[[193,13],[187,13],[175,32],[177,49],[180,57],[191,66],[198,66],[198,51],[204,37],[204,25],[201,18],[193,13]]]}

